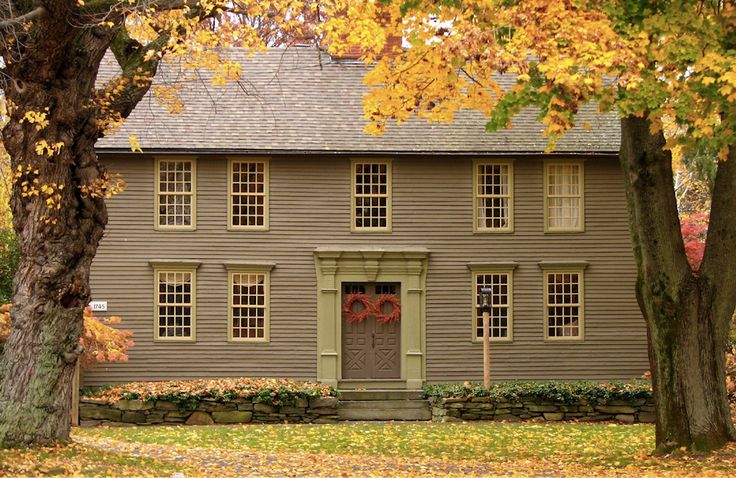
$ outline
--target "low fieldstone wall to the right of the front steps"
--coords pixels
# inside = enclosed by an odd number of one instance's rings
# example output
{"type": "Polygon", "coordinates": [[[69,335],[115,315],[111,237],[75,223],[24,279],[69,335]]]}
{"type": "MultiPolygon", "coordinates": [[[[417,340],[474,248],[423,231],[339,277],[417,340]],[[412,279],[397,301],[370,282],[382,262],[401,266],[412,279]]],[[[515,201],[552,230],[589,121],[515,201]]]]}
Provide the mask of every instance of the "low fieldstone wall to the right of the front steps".
{"type": "Polygon", "coordinates": [[[489,397],[432,397],[430,404],[432,420],[440,422],[470,420],[598,422],[613,420],[621,423],[654,423],[656,418],[654,399],[566,404],[524,398],[508,402],[492,401],[489,397]]]}

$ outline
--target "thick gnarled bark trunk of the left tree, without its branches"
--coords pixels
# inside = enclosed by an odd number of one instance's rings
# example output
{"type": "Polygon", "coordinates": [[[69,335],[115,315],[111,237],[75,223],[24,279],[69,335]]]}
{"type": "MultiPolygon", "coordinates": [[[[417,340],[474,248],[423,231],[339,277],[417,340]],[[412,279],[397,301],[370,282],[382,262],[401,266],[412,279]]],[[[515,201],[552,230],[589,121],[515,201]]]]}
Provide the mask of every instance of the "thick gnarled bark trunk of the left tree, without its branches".
{"type": "Polygon", "coordinates": [[[107,222],[94,190],[103,170],[91,105],[112,34],[106,42],[104,33],[75,28],[63,13],[10,66],[14,83],[6,88],[11,109],[3,140],[16,173],[11,206],[21,259],[0,359],[0,447],[69,436],[89,270],[107,222]],[[48,125],[29,122],[28,112],[45,113],[48,125]],[[49,154],[38,151],[41,141],[63,145],[49,154]]]}

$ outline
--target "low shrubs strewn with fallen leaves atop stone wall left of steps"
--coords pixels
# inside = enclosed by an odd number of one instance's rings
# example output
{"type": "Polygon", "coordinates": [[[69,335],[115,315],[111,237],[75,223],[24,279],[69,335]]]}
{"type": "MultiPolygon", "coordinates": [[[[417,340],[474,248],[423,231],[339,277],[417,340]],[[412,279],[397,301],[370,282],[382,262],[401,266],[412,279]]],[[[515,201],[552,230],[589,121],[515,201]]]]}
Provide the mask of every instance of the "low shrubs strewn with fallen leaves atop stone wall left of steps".
{"type": "Polygon", "coordinates": [[[274,378],[216,378],[133,382],[101,388],[84,395],[85,399],[114,403],[118,400],[163,400],[181,409],[194,409],[202,400],[230,401],[251,399],[275,406],[293,405],[298,398],[335,397],[337,391],[315,382],[274,378]]]}

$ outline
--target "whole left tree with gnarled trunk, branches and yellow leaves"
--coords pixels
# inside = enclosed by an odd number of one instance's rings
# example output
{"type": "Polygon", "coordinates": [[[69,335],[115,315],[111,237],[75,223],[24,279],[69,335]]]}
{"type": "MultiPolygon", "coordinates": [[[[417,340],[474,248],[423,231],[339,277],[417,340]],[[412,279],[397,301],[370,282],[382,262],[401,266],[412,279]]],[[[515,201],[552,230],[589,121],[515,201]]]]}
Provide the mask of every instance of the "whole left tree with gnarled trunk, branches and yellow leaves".
{"type": "MultiPolygon", "coordinates": [[[[240,65],[219,47],[258,50],[256,19],[272,40],[314,36],[314,1],[46,0],[0,6],[3,129],[11,158],[13,226],[20,250],[12,330],[0,359],[0,447],[69,436],[71,384],[82,347],[89,269],[107,223],[105,198],[122,183],[95,142],[151,87],[162,58],[236,81],[240,65]],[[98,84],[108,50],[120,74],[98,84]]],[[[176,88],[157,90],[170,100],[176,88]]],[[[136,140],[131,138],[135,148],[136,140]]]]}

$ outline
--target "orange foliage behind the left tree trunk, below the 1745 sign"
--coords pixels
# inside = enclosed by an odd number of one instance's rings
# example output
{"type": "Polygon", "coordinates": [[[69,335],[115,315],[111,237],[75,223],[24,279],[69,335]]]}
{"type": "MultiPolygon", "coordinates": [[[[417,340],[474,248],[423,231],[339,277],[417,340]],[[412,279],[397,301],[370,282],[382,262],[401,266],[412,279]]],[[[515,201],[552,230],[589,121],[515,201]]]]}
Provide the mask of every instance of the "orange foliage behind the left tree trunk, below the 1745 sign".
{"type": "MultiPolygon", "coordinates": [[[[10,335],[10,310],[10,304],[0,306],[0,344],[10,335]]],[[[98,318],[89,307],[84,310],[84,332],[79,340],[84,347],[79,356],[82,368],[89,368],[96,363],[128,360],[127,352],[134,345],[130,338],[133,334],[110,326],[120,322],[120,317],[98,318]]]]}

